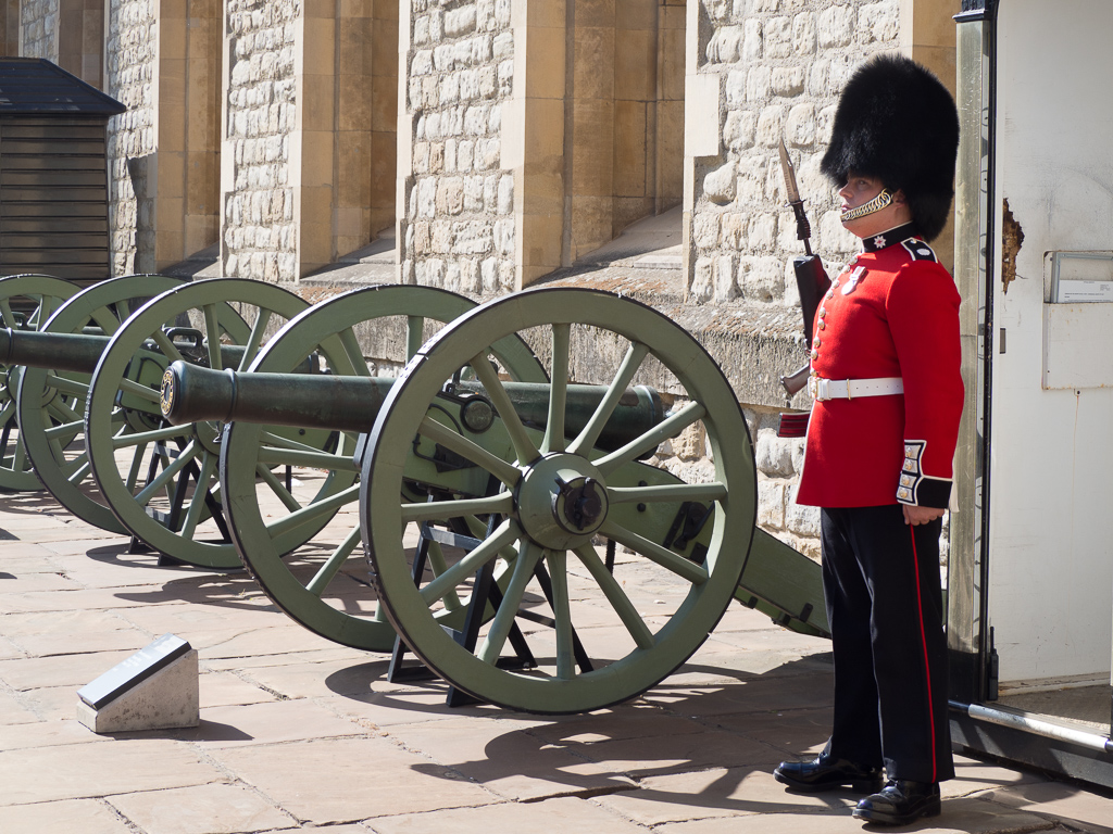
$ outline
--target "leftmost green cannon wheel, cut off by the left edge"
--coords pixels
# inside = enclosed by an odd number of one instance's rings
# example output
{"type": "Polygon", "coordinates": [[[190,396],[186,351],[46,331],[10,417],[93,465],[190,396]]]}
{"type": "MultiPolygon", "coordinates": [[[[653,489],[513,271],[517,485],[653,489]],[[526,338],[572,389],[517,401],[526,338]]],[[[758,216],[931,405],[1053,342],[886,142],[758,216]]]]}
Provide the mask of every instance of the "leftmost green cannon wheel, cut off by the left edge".
{"type": "MultiPolygon", "coordinates": [[[[49,275],[0,278],[0,317],[12,330],[38,330],[62,301],[80,287],[49,275]]],[[[23,368],[0,365],[0,492],[42,489],[27,458],[16,416],[17,391],[23,368]]]]}

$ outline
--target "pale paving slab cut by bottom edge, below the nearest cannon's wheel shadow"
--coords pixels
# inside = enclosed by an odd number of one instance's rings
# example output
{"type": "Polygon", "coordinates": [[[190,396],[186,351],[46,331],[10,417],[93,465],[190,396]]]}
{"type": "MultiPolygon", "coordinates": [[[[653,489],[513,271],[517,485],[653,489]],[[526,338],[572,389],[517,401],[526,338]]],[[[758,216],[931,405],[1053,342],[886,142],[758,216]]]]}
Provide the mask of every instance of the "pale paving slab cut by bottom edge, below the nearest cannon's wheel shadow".
{"type": "MultiPolygon", "coordinates": [[[[371,822],[376,834],[443,834],[454,832],[605,832],[634,834],[641,826],[622,820],[592,802],[561,797],[536,803],[501,803],[477,808],[449,808],[429,814],[378,817],[371,822]]],[[[331,830],[332,831],[332,830],[331,830]]]]}

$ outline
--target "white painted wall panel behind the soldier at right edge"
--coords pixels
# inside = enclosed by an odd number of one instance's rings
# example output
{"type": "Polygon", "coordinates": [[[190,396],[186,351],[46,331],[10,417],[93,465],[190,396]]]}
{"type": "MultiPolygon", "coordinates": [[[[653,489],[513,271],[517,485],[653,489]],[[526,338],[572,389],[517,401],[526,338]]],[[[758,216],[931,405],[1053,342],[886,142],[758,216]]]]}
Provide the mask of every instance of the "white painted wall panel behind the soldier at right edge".
{"type": "MultiPolygon", "coordinates": [[[[1003,683],[1110,671],[1113,389],[1041,379],[1044,254],[1113,249],[1111,36],[1107,0],[1001,4],[989,615],[1003,683]],[[1024,232],[1007,292],[1006,198],[1024,232]]],[[[1109,334],[1073,338],[1096,350],[1109,334]]]]}

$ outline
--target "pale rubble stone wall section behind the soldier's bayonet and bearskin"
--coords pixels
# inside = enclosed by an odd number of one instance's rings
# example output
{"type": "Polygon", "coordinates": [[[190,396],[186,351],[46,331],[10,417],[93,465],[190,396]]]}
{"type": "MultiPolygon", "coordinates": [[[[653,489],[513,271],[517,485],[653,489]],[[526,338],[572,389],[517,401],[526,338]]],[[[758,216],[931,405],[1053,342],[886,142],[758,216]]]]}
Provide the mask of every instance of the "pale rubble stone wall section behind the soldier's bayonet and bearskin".
{"type": "MultiPolygon", "coordinates": [[[[698,302],[795,305],[802,254],[786,202],[784,137],[811,222],[836,269],[857,248],[819,172],[839,91],[868,54],[899,46],[899,0],[699,0],[697,72],[718,76],[716,156],[695,160],[690,288],[698,302]]],[[[692,43],[692,40],[689,40],[692,43]]]]}

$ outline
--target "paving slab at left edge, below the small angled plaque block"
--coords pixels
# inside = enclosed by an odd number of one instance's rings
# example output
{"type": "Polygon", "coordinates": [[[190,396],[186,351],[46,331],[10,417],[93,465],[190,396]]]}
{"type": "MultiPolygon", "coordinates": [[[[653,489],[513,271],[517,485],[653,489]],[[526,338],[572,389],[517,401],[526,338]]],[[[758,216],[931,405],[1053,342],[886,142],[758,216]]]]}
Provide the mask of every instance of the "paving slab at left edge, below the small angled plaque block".
{"type": "Polygon", "coordinates": [[[220,782],[223,774],[186,745],[161,738],[114,739],[0,753],[0,805],[79,800],[220,782]]]}

